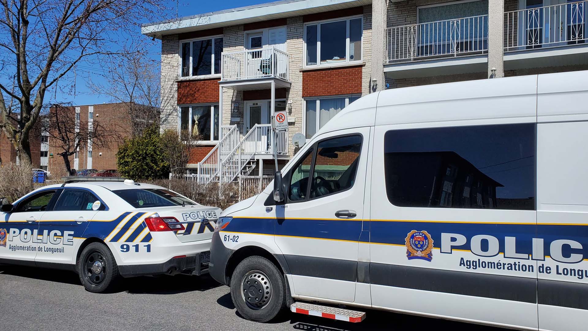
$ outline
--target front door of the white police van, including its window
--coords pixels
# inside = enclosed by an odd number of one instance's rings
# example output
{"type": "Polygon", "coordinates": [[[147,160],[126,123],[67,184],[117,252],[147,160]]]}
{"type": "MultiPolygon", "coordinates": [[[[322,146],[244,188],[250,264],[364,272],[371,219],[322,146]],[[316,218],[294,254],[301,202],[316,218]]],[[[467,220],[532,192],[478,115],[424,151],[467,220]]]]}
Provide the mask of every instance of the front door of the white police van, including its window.
{"type": "Polygon", "coordinates": [[[295,295],[355,302],[369,131],[321,135],[284,176],[275,241],[295,295]]]}

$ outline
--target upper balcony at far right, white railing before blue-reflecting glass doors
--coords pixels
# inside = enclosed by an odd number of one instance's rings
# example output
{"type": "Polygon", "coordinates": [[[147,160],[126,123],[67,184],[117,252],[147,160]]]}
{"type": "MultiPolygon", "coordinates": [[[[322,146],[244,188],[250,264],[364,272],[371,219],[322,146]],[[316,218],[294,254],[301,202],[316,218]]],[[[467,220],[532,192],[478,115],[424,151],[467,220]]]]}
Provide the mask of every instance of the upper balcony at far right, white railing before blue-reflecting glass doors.
{"type": "Polygon", "coordinates": [[[587,2],[505,12],[505,69],[586,63],[587,2]]]}

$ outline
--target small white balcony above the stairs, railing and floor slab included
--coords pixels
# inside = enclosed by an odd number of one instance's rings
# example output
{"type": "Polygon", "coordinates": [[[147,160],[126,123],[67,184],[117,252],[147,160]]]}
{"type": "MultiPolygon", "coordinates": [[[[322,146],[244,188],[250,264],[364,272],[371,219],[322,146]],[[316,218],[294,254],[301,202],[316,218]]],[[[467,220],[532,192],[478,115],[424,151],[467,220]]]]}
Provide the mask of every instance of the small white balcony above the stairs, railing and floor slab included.
{"type": "Polygon", "coordinates": [[[223,52],[221,61],[219,84],[223,87],[263,90],[270,88],[272,81],[277,88],[290,87],[289,56],[278,48],[223,52]]]}

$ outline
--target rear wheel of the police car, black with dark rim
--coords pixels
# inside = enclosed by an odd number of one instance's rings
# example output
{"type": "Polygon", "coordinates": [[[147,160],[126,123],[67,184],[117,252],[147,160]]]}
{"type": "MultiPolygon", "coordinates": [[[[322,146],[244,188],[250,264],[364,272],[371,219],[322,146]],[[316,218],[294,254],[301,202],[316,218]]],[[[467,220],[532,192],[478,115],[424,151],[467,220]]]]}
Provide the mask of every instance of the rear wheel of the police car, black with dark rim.
{"type": "Polygon", "coordinates": [[[94,293],[112,289],[113,280],[119,276],[114,256],[103,243],[91,243],[83,249],[78,274],[83,287],[94,293]]]}

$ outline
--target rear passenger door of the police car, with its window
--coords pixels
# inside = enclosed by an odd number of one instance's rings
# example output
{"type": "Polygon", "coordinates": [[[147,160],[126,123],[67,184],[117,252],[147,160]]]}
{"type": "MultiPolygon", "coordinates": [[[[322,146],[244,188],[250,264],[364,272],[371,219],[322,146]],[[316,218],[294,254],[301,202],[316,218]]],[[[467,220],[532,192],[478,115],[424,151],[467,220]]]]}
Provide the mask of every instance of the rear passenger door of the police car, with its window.
{"type": "Polygon", "coordinates": [[[39,236],[47,239],[42,243],[35,262],[75,263],[75,249],[83,240],[83,232],[98,210],[104,207],[88,190],[65,188],[53,210],[46,211],[41,217],[39,236]]]}

